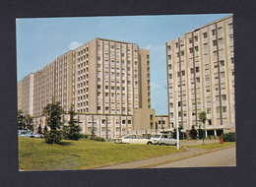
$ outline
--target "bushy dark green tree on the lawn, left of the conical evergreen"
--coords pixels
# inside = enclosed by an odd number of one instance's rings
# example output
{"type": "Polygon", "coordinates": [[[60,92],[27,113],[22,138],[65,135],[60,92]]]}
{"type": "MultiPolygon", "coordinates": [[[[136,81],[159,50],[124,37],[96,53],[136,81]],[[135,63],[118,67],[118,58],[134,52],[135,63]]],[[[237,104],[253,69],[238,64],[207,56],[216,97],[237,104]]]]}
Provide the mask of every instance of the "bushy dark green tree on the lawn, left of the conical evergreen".
{"type": "Polygon", "coordinates": [[[50,127],[50,131],[47,132],[45,136],[45,142],[48,144],[58,144],[60,143],[61,136],[61,114],[63,109],[59,102],[49,103],[43,109],[43,114],[46,116],[46,124],[50,127]]]}

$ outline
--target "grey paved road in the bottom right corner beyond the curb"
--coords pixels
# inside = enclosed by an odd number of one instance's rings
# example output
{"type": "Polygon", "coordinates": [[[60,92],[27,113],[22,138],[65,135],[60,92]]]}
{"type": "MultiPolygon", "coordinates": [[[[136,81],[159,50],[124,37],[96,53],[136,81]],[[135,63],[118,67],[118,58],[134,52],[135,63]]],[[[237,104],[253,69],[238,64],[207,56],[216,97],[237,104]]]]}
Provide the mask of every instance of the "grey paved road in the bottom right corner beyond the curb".
{"type": "Polygon", "coordinates": [[[204,167],[204,166],[235,166],[235,148],[229,148],[218,152],[195,156],[179,161],[165,163],[152,168],[163,167],[204,167]]]}

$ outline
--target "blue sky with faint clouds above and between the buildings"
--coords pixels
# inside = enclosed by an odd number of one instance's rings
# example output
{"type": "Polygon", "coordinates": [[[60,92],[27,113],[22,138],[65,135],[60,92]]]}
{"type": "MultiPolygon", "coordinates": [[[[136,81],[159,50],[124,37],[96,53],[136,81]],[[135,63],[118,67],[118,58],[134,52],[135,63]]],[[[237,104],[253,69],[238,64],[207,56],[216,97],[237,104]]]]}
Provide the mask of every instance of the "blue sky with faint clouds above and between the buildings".
{"type": "Polygon", "coordinates": [[[167,115],[165,43],[230,14],[17,19],[18,82],[96,37],[150,50],[152,108],[167,115]]]}

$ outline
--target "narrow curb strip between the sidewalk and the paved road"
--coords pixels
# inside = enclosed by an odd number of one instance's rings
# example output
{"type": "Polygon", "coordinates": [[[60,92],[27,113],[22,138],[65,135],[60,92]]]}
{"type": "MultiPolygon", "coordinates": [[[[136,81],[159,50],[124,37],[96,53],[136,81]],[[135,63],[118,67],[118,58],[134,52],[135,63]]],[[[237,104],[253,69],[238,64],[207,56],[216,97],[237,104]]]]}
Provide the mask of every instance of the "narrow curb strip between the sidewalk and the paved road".
{"type": "Polygon", "coordinates": [[[228,149],[228,148],[232,148],[232,147],[235,147],[235,146],[227,146],[227,147],[224,147],[224,148],[218,148],[218,149],[214,149],[214,150],[210,150],[210,151],[206,151],[206,152],[202,152],[202,153],[198,153],[198,154],[193,154],[193,155],[190,155],[190,156],[176,157],[176,158],[167,159],[167,160],[164,160],[164,161],[159,161],[159,162],[155,162],[155,163],[151,163],[151,164],[146,164],[146,165],[141,165],[141,166],[135,166],[135,167],[131,167],[131,168],[149,168],[149,167],[154,167],[154,166],[158,166],[158,165],[161,165],[161,164],[164,164],[164,163],[170,163],[170,162],[174,162],[174,161],[179,161],[179,160],[187,159],[187,158],[194,157],[194,156],[203,156],[203,155],[206,155],[206,154],[210,154],[210,153],[213,153],[213,152],[218,152],[218,151],[221,151],[221,150],[224,150],[224,149],[228,149]]]}

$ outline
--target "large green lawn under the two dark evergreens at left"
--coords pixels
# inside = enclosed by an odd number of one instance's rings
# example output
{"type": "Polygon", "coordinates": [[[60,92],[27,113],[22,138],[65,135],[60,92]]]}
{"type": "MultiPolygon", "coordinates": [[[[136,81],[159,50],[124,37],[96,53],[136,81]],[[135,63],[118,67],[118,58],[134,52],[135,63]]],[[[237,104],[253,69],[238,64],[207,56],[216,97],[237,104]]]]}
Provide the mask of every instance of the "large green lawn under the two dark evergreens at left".
{"type": "Polygon", "coordinates": [[[104,165],[165,156],[177,152],[174,146],[124,145],[63,140],[60,145],[49,145],[44,139],[19,138],[20,170],[91,169],[104,165]]]}

